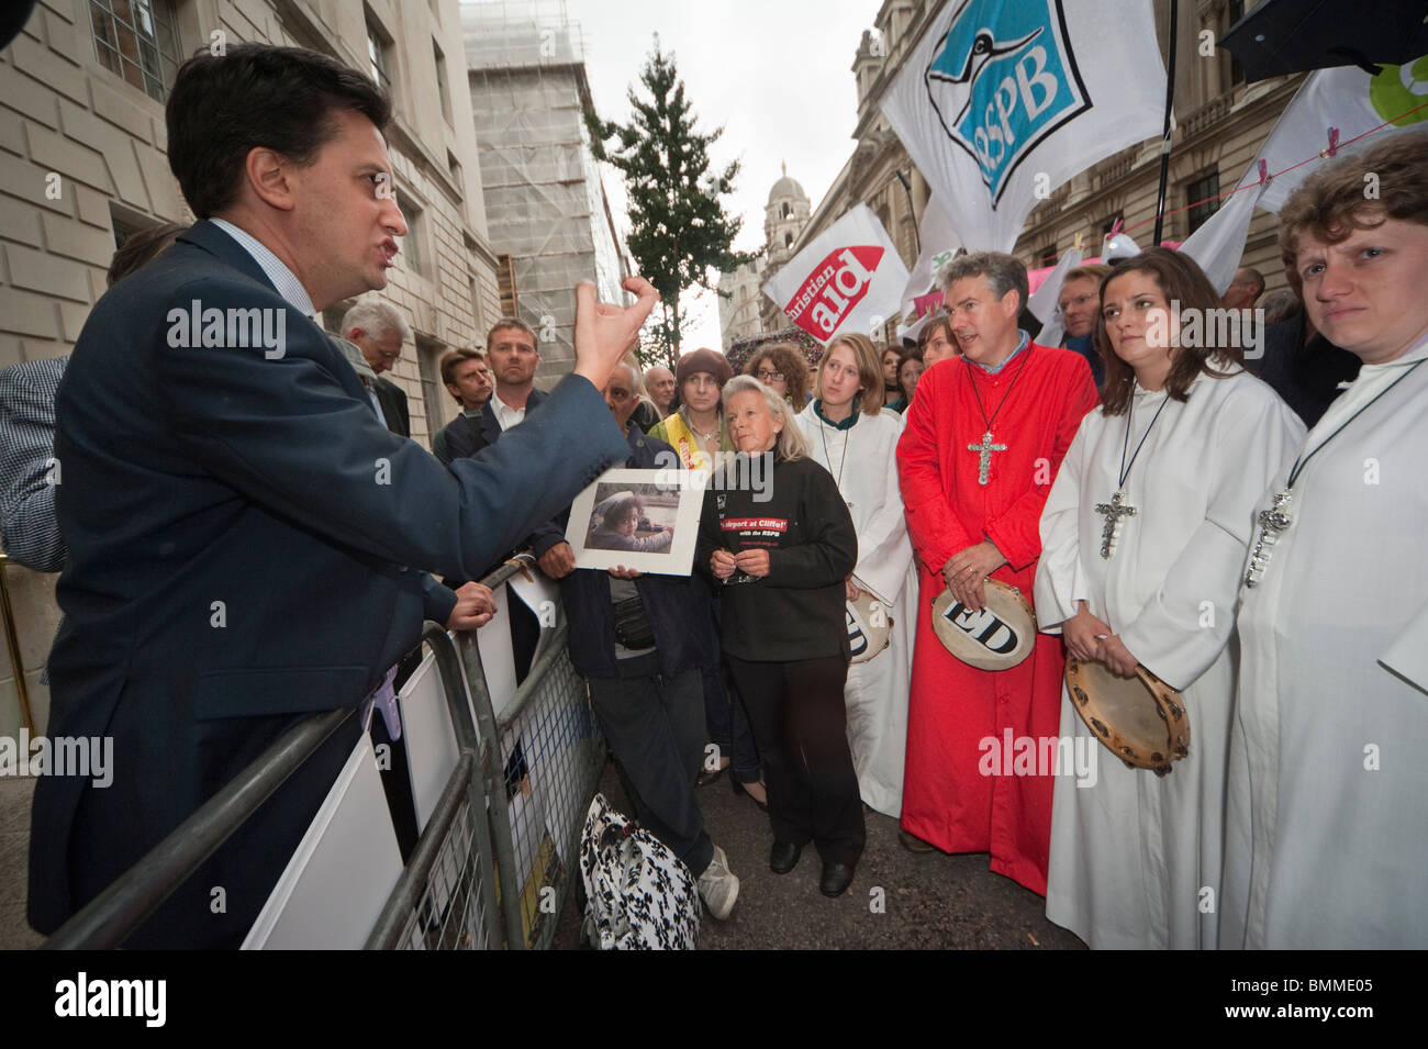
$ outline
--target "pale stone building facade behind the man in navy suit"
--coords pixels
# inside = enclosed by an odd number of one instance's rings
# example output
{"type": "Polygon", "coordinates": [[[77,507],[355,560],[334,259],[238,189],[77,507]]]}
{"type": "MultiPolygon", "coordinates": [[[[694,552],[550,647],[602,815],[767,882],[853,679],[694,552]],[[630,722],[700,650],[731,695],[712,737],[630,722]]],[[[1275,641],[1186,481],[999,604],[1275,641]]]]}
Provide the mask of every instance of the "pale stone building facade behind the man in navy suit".
{"type": "MultiPolygon", "coordinates": [[[[41,0],[0,54],[0,367],[70,353],[117,243],[193,220],[169,171],[164,101],[187,56],[240,41],[323,51],[393,96],[387,144],[410,233],[381,295],[416,334],[390,378],[426,444],[456,414],[437,360],[483,340],[500,315],[457,0],[41,0]]],[[[324,320],[340,315],[338,305],[324,320]]],[[[54,579],[9,571],[43,729],[54,579]]],[[[0,735],[10,735],[19,714],[0,659],[0,735]]]]}

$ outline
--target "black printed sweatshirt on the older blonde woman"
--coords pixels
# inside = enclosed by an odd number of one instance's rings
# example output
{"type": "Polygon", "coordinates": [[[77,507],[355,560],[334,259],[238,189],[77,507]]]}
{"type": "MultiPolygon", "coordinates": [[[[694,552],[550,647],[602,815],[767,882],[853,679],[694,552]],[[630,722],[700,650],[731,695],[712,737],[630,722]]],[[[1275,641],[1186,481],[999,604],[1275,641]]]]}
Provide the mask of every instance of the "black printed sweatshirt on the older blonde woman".
{"type": "Polygon", "coordinates": [[[770,498],[760,501],[750,484],[760,478],[750,478],[748,467],[740,455],[704,492],[694,555],[713,578],[715,549],[768,548],[767,577],[717,584],[723,649],[750,661],[847,658],[844,579],[858,562],[858,537],[837,481],[813,460],[774,457],[773,472],[763,475],[770,498]]]}

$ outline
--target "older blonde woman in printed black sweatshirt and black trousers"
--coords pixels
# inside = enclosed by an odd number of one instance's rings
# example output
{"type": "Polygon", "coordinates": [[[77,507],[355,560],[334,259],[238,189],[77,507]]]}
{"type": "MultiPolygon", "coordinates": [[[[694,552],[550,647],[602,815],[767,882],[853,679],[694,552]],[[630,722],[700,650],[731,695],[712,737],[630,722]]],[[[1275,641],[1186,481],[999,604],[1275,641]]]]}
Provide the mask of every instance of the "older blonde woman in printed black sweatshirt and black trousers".
{"type": "Polygon", "coordinates": [[[768,866],[788,873],[813,842],[818,888],[840,896],[865,841],[843,705],[843,602],[858,537],[787,401],[740,375],[724,388],[724,410],[740,455],[704,495],[695,562],[724,589],[724,659],[768,782],[768,866]]]}

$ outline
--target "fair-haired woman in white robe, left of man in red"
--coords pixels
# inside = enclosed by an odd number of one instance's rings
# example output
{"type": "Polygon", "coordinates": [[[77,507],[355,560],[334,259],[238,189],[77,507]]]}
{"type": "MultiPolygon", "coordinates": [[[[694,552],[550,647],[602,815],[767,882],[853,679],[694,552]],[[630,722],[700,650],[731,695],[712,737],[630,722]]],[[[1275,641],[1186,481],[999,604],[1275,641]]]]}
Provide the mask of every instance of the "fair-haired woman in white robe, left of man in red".
{"type": "Polygon", "coordinates": [[[865,335],[840,335],[818,364],[820,395],[798,414],[810,458],[838,482],[858,534],[847,597],[871,594],[888,618],[888,647],[848,667],[848,746],[863,801],[902,811],[907,695],[912,676],[917,569],[897,480],[902,417],[883,411],[883,364],[865,335]]]}

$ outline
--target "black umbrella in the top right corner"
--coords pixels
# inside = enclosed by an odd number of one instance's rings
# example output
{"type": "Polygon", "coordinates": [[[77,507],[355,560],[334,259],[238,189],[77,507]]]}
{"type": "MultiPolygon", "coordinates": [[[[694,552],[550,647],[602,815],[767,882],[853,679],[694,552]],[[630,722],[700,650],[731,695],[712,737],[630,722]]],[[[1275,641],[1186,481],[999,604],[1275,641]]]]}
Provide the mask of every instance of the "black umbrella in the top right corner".
{"type": "Polygon", "coordinates": [[[1424,0],[1264,0],[1220,41],[1248,80],[1331,66],[1402,66],[1428,54],[1424,0]]]}

